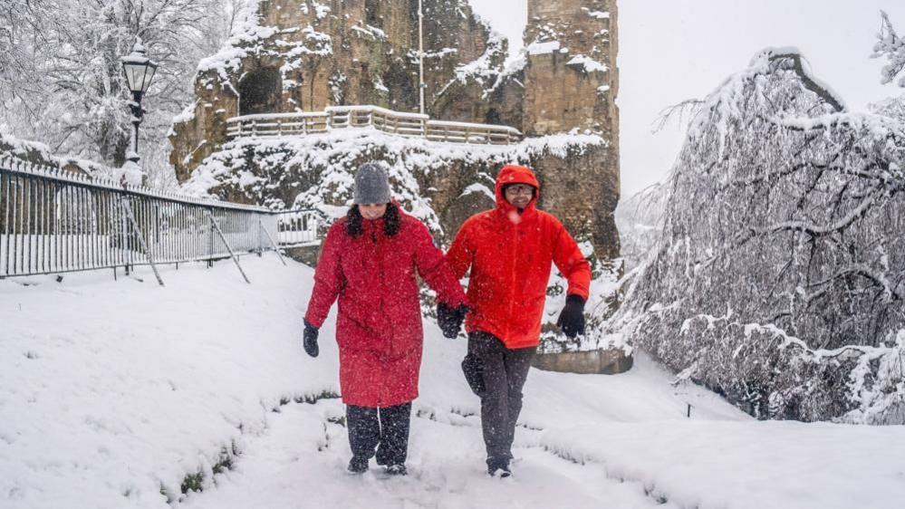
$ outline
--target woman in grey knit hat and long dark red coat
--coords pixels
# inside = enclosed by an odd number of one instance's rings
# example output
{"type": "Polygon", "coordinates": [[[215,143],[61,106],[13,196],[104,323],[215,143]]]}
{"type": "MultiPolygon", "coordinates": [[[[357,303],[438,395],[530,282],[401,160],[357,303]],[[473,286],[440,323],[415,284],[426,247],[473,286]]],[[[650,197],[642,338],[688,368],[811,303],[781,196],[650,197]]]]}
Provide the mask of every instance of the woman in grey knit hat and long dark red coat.
{"type": "Polygon", "coordinates": [[[376,449],[378,465],[405,475],[423,343],[415,276],[428,282],[440,303],[458,308],[466,297],[428,228],[391,202],[383,168],[359,168],[353,202],[323,242],[305,313],[304,348],[317,356],[317,332],[339,299],[336,342],[349,470],[367,471],[376,449]]]}

